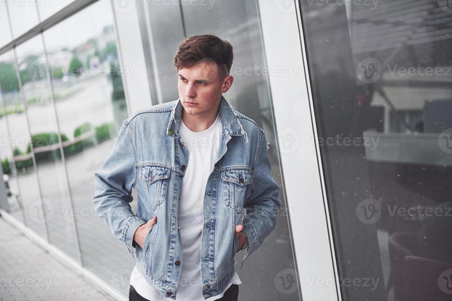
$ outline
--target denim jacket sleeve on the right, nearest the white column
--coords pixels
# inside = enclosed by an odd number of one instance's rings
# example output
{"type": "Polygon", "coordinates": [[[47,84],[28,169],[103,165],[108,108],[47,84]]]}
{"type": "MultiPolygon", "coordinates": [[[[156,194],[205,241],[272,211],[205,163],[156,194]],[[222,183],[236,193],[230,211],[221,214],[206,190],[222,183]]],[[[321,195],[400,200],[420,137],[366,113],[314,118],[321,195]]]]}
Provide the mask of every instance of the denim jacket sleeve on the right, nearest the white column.
{"type": "Polygon", "coordinates": [[[259,148],[256,154],[256,164],[252,181],[252,192],[245,200],[243,207],[243,231],[248,237],[249,245],[245,249],[242,259],[251,255],[276,227],[278,210],[281,207],[279,199],[279,186],[273,180],[270,158],[268,157],[267,139],[262,133],[259,148]]]}

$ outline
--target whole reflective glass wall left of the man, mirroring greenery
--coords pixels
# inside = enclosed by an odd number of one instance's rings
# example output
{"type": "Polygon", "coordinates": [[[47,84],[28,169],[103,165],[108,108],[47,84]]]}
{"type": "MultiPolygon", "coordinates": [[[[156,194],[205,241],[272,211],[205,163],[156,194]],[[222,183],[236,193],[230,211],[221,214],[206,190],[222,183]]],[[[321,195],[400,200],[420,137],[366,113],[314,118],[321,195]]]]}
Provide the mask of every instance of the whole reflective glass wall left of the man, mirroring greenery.
{"type": "MultiPolygon", "coordinates": [[[[72,1],[40,1],[38,8],[10,2],[17,37],[38,24],[38,10],[41,19],[52,18],[72,1]]],[[[5,12],[0,5],[0,16],[5,12]]],[[[6,34],[2,39],[9,42],[6,34]]],[[[97,216],[92,198],[94,172],[128,117],[122,76],[108,0],[0,56],[0,157],[9,213],[118,291],[115,276],[122,269],[130,274],[135,259],[97,216]]]]}

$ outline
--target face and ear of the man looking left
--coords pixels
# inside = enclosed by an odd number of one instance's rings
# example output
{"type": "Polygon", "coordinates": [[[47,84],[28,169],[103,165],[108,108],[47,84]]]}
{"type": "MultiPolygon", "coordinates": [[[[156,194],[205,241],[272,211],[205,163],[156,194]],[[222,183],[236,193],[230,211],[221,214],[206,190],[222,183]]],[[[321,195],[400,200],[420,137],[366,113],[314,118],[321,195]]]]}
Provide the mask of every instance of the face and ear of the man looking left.
{"type": "Polygon", "coordinates": [[[231,75],[221,80],[217,63],[208,59],[200,60],[190,68],[179,69],[178,76],[179,98],[189,115],[216,111],[221,93],[225,93],[233,81],[231,75]]]}

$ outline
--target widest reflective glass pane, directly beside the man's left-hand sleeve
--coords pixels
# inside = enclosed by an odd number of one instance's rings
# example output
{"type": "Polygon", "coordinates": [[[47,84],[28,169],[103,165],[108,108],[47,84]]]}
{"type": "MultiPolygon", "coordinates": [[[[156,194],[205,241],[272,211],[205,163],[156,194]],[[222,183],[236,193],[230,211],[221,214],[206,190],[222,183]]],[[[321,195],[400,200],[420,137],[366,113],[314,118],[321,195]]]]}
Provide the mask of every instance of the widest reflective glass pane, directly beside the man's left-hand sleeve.
{"type": "MultiPolygon", "coordinates": [[[[110,1],[100,0],[44,34],[64,142],[83,264],[110,283],[135,259],[116,240],[92,203],[93,175],[110,155],[127,107],[118,67],[110,1]],[[87,22],[89,20],[89,22],[87,22]]],[[[121,284],[112,287],[121,290],[121,284]]],[[[127,282],[128,287],[128,282],[127,282]]]]}

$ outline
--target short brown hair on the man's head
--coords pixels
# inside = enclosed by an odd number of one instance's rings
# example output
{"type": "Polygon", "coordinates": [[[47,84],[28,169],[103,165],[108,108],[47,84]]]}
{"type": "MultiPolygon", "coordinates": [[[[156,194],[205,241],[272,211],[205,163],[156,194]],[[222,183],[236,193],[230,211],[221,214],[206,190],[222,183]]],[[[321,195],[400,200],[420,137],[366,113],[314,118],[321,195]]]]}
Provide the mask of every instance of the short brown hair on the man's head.
{"type": "Polygon", "coordinates": [[[231,71],[234,59],[231,43],[214,34],[187,37],[177,47],[174,66],[177,70],[190,68],[205,58],[215,60],[220,69],[220,78],[226,77],[231,71]]]}

